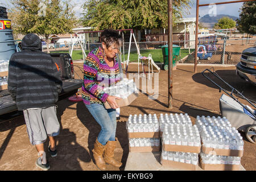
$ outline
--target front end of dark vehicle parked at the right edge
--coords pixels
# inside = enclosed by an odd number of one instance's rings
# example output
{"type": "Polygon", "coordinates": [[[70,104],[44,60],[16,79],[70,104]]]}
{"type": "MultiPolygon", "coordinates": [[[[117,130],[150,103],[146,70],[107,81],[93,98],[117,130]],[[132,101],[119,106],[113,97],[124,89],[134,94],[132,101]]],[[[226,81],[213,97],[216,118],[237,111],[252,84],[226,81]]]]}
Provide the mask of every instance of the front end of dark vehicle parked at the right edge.
{"type": "Polygon", "coordinates": [[[237,64],[237,75],[256,85],[256,46],[243,50],[241,61],[237,64]]]}

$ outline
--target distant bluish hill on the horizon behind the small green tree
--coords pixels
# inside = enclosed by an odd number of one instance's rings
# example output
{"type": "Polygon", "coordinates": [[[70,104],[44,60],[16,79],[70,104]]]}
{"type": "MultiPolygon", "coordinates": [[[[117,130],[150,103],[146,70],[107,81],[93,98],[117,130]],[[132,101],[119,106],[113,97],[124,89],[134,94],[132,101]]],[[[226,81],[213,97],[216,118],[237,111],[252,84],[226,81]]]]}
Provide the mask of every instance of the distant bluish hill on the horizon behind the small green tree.
{"type": "Polygon", "coordinates": [[[238,17],[230,16],[230,15],[216,15],[216,16],[204,15],[203,17],[199,18],[199,22],[203,23],[203,25],[207,28],[213,28],[214,24],[217,23],[218,20],[224,16],[228,16],[229,18],[232,18],[235,21],[238,19],[238,17]]]}

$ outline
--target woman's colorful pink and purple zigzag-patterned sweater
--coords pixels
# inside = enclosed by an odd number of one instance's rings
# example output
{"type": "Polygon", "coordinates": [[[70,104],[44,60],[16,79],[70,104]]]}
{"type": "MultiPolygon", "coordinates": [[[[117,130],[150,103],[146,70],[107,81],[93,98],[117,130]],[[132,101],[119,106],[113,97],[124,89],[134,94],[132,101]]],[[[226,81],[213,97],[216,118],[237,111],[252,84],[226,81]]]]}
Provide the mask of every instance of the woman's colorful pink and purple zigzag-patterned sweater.
{"type": "Polygon", "coordinates": [[[82,98],[85,105],[101,104],[109,97],[103,89],[117,84],[122,80],[116,57],[114,67],[109,67],[102,55],[102,48],[98,47],[88,54],[84,61],[84,83],[82,84],[82,98]]]}

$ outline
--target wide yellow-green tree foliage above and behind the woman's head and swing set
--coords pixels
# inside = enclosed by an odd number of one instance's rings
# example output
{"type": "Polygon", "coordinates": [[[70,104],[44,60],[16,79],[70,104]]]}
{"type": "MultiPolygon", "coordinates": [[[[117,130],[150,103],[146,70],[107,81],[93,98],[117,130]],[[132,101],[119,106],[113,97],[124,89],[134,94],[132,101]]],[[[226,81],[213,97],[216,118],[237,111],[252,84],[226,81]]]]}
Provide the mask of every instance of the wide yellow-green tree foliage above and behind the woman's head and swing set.
{"type": "MultiPolygon", "coordinates": [[[[174,0],[174,22],[188,11],[190,0],[174,0]]],[[[168,27],[167,0],[89,0],[84,4],[84,25],[94,30],[168,27]]]]}

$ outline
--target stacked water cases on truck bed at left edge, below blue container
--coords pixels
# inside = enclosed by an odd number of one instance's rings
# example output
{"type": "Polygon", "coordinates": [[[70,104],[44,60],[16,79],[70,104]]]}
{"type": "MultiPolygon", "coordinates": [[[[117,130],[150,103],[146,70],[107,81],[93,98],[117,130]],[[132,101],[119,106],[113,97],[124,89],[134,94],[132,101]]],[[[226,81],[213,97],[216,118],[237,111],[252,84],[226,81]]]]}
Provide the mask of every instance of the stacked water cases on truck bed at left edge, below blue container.
{"type": "Polygon", "coordinates": [[[0,60],[0,90],[7,89],[9,60],[0,60]]]}

